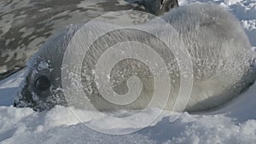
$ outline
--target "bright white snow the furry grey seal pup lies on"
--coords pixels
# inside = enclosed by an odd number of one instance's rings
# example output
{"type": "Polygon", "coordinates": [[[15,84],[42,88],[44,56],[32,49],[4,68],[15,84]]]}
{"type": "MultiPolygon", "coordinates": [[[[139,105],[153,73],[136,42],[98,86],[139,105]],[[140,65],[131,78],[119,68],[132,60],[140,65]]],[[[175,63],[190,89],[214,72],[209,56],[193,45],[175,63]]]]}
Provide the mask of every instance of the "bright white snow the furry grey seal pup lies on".
{"type": "MultiPolygon", "coordinates": [[[[180,5],[207,0],[181,0],[180,5]]],[[[210,1],[209,1],[210,2],[210,1]]],[[[228,7],[241,21],[253,47],[256,46],[256,1],[214,0],[228,7]]],[[[13,104],[24,71],[0,82],[0,143],[256,143],[256,84],[246,93],[215,112],[191,115],[187,112],[163,112],[153,124],[129,135],[107,135],[90,130],[68,107],[55,107],[49,112],[15,108],[13,104]],[[178,118],[174,121],[172,119],[178,118]]],[[[154,112],[154,109],[152,109],[154,112]]],[[[85,112],[87,116],[93,115],[85,112]]],[[[148,112],[150,115],[150,112],[148,112]]],[[[90,123],[88,117],[86,123],[90,123]]],[[[100,119],[112,130],[124,133],[137,129],[134,124],[116,125],[100,119]]]]}

